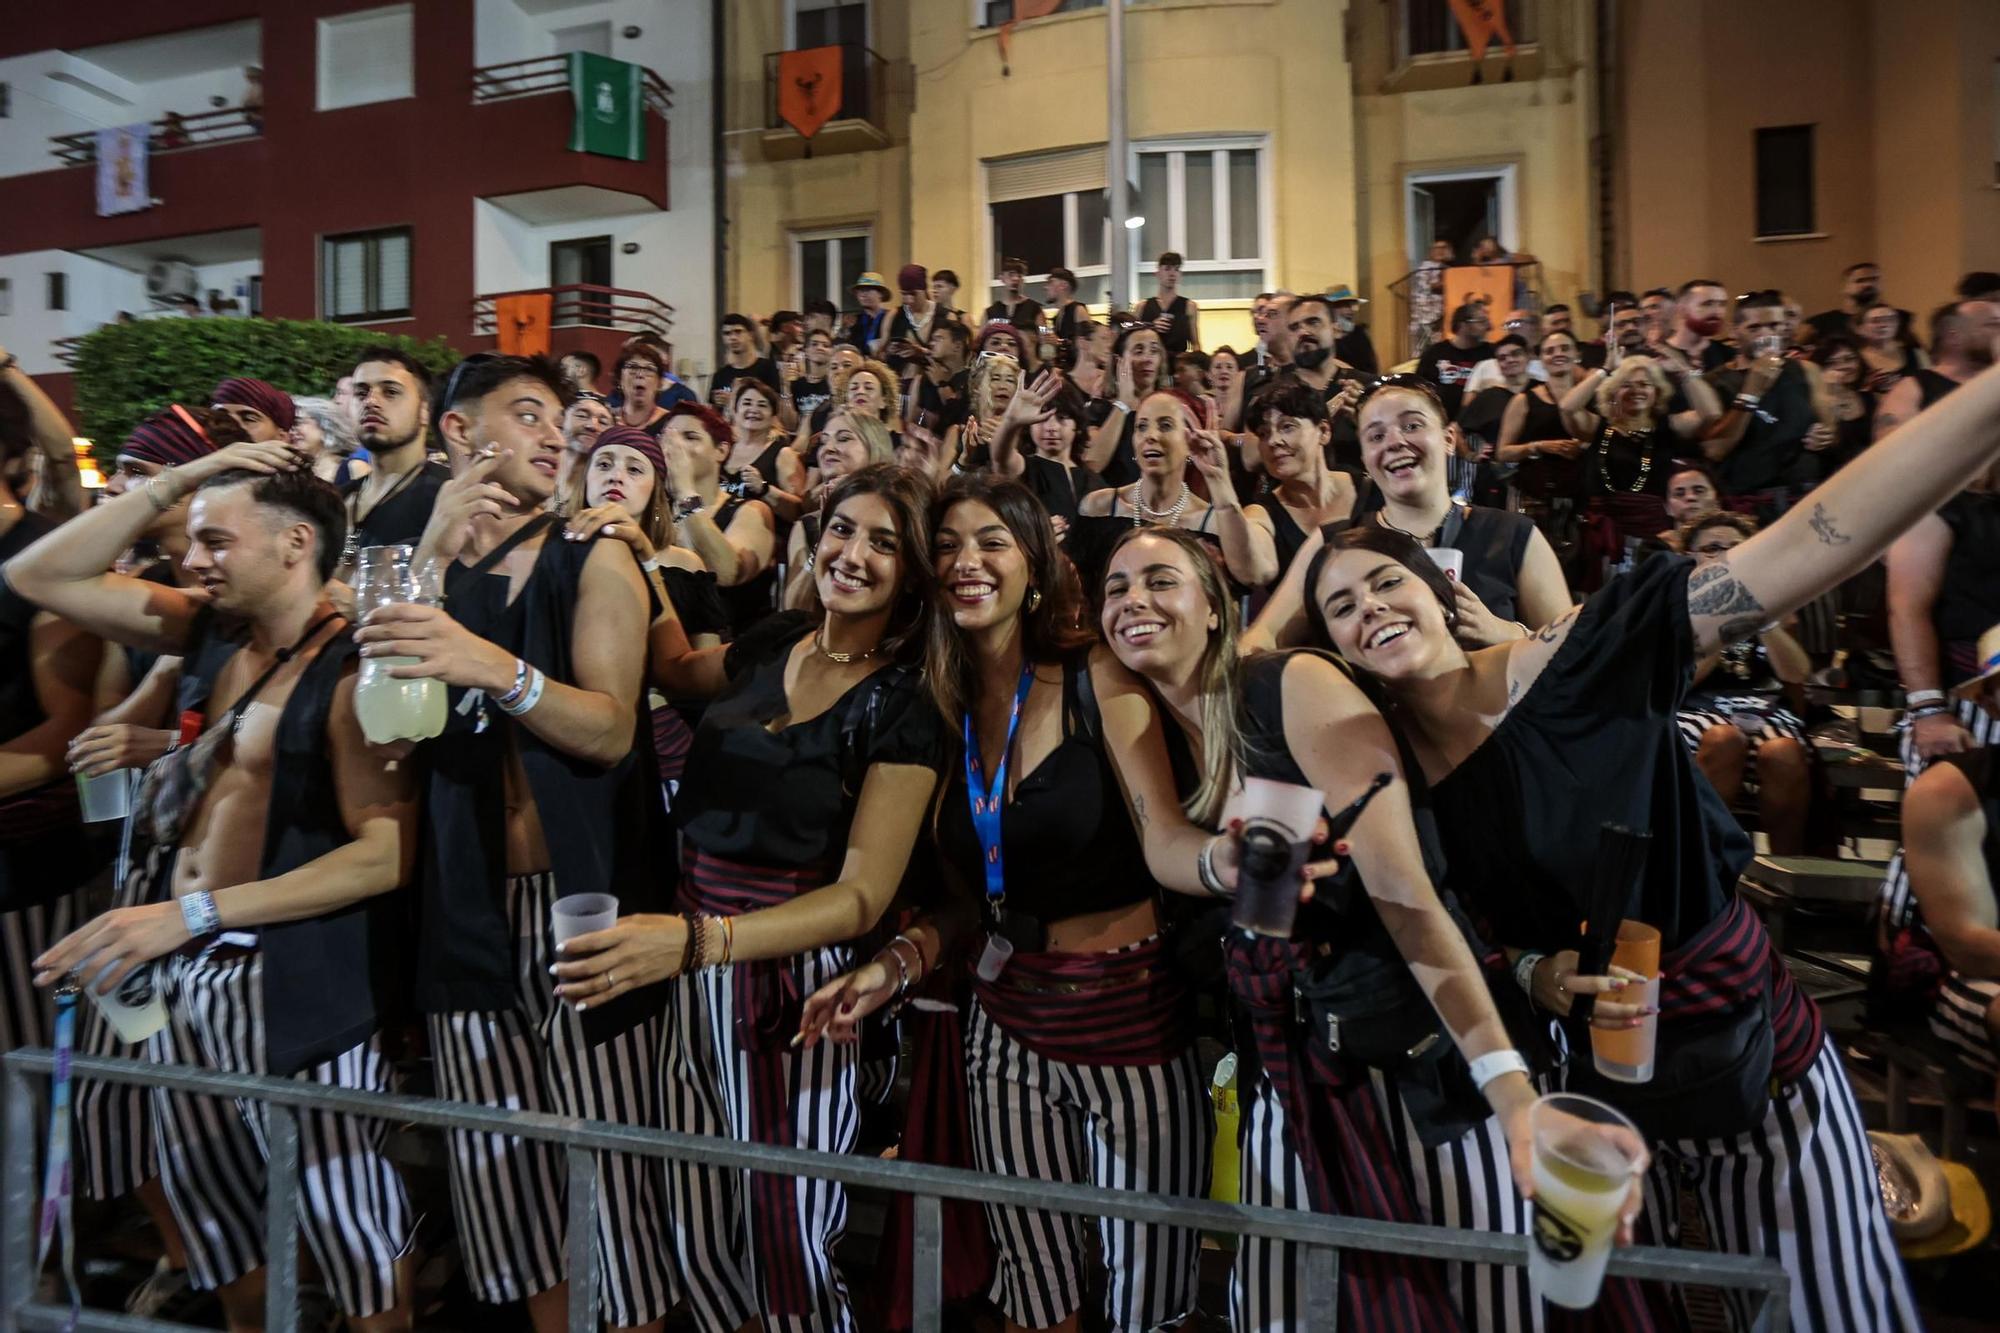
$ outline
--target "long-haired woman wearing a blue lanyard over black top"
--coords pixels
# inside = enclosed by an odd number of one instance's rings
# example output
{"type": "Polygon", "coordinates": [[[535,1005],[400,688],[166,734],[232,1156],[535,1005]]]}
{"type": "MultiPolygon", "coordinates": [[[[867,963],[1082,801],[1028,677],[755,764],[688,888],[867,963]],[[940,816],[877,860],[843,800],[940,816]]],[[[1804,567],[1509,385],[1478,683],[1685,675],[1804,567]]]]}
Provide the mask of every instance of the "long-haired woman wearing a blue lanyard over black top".
{"type": "MultiPolygon", "coordinates": [[[[812,997],[802,1031],[854,1039],[860,1019],[974,937],[966,1067],[980,1169],[1202,1197],[1212,1129],[1194,995],[1158,895],[1162,883],[1202,893],[1210,839],[1180,817],[1152,701],[1096,642],[1028,488],[966,474],[932,512],[942,600],[926,675],[964,739],[934,825],[952,903],[812,997]],[[1000,947],[1012,953],[992,971],[1000,947]]],[[[1078,1327],[1078,1223],[986,1215],[1008,1327],[1078,1327]]],[[[1194,1307],[1194,1231],[1106,1221],[1098,1237],[1108,1327],[1156,1329],[1194,1307]]]]}

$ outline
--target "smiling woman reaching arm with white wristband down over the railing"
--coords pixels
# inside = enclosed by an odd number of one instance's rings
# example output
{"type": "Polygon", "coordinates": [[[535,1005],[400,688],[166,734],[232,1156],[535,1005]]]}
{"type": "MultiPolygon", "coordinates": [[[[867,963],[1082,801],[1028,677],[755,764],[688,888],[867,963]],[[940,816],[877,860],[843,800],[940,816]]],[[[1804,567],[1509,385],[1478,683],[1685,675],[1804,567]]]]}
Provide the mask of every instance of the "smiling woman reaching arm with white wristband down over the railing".
{"type": "MultiPolygon", "coordinates": [[[[1390,777],[1346,835],[1352,869],[1316,885],[1290,939],[1230,933],[1228,985],[1248,1037],[1238,1041],[1242,1201],[1522,1231],[1518,1203],[1510,1215],[1484,1213],[1476,1199],[1448,1211],[1418,1193],[1406,1167],[1404,1139],[1420,1139],[1488,1175],[1526,1175],[1534,1089],[1468,937],[1434,889],[1428,813],[1400,781],[1382,717],[1314,652],[1238,662],[1226,578],[1186,532],[1138,528],[1118,542],[1102,630],[1160,699],[1178,795],[1196,823],[1222,825],[1246,777],[1314,787],[1328,809],[1390,777]],[[1342,1015],[1346,1041],[1330,1049],[1328,1017],[1342,1015]]],[[[1302,1269],[1296,1247],[1246,1239],[1232,1281],[1236,1329],[1306,1327],[1302,1269]]],[[[1456,1329],[1460,1303],[1470,1317],[1496,1285],[1432,1263],[1348,1255],[1340,1319],[1456,1329]]],[[[1620,1309],[1628,1297],[1614,1289],[1620,1309]]]]}

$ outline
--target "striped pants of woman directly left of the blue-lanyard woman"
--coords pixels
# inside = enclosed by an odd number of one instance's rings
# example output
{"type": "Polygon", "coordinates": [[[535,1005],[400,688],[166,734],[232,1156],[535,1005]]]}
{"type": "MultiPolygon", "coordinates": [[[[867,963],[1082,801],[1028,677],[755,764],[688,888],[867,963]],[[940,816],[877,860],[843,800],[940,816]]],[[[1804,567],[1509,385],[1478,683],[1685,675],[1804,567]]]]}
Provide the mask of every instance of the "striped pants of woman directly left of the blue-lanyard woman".
{"type": "MultiPolygon", "coordinates": [[[[850,949],[814,949],[778,967],[792,969],[798,995],[854,967],[850,949]]],[[[852,1045],[818,1041],[782,1055],[752,1055],[736,1039],[734,967],[710,967],[676,979],[668,1005],[662,1109],[666,1127],[690,1135],[752,1139],[752,1059],[784,1061],[794,1147],[852,1153],[860,1135],[860,1097],[852,1045]]],[[[782,1239],[788,1263],[804,1265],[812,1311],[782,1315],[768,1309],[770,1255],[758,1239],[770,1219],[758,1217],[750,1173],[666,1165],[674,1219],[674,1253],[688,1283],[688,1301],[704,1333],[734,1333],[762,1317],[772,1333],[852,1333],[852,1303],[834,1265],[834,1247],[848,1225],[848,1195],[834,1181],[790,1181],[796,1227],[782,1239]]]]}

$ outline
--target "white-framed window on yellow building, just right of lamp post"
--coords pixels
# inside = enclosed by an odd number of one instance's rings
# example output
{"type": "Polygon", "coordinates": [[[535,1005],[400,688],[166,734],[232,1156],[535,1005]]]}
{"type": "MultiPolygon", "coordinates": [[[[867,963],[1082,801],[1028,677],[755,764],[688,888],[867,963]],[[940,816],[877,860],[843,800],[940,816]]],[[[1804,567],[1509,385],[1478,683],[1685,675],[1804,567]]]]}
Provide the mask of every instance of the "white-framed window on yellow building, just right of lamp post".
{"type": "Polygon", "coordinates": [[[1146,220],[1134,234],[1134,272],[1162,250],[1186,260],[1180,290],[1194,300],[1248,300],[1264,280],[1264,142],[1140,144],[1134,150],[1146,220]]]}

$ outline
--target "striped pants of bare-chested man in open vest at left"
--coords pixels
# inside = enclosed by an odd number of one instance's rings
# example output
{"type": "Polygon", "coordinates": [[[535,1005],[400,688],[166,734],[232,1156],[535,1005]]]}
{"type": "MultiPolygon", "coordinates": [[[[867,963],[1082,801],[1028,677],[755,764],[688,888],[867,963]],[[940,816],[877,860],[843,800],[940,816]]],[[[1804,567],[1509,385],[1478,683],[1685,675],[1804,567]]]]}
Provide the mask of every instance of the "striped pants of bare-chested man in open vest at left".
{"type": "MultiPolygon", "coordinates": [[[[264,1063],[264,955],[210,949],[164,961],[168,1023],[148,1043],[162,1065],[268,1073],[264,1063]]],[[[302,1071],[330,1087],[390,1091],[380,1041],[302,1071]]],[[[160,1183],[200,1289],[224,1287],[264,1265],[260,1103],[152,1089],[160,1183]]],[[[396,1305],[396,1259],[410,1243],[410,1201],[382,1155],[382,1121],[298,1113],[298,1219],[340,1309],[380,1315],[396,1305]]]]}

